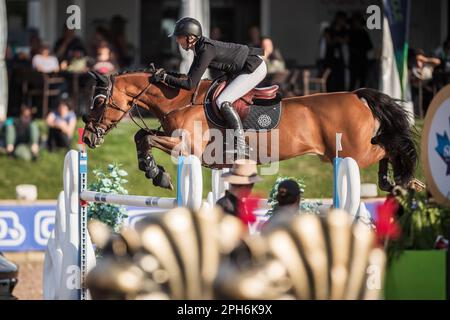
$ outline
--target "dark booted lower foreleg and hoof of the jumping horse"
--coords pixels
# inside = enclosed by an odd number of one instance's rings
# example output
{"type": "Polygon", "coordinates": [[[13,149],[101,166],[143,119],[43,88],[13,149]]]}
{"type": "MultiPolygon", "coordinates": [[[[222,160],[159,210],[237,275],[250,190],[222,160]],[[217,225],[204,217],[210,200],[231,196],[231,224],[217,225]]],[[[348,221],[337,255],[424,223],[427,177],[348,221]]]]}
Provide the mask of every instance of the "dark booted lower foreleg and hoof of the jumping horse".
{"type": "Polygon", "coordinates": [[[146,130],[139,130],[134,135],[139,170],[145,172],[145,177],[153,180],[153,185],[173,190],[170,175],[165,172],[164,167],[156,164],[152,154],[154,135],[146,130]]]}

